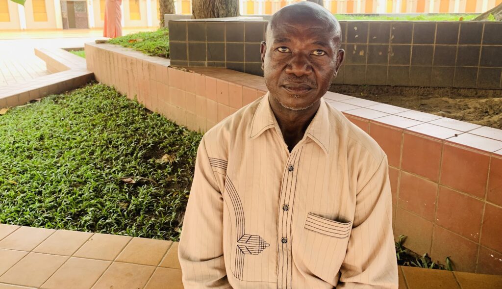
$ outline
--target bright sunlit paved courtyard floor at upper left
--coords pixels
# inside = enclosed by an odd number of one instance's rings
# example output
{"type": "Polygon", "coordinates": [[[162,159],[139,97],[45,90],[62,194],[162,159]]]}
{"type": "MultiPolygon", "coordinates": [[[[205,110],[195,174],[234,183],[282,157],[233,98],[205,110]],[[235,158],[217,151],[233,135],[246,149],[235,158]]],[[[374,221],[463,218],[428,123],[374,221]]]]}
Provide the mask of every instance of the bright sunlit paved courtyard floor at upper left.
{"type": "MultiPolygon", "coordinates": [[[[156,28],[124,30],[124,35],[156,28]]],[[[0,86],[47,75],[44,61],[35,48],[76,48],[86,42],[106,39],[101,30],[0,31],[0,86]]]]}

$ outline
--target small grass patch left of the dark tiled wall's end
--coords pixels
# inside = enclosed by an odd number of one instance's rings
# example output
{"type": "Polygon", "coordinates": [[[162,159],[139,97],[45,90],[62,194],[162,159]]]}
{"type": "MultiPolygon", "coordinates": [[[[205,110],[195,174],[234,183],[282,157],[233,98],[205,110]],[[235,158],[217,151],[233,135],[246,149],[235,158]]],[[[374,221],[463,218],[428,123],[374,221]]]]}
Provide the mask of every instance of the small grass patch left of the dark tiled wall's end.
{"type": "Polygon", "coordinates": [[[108,43],[133,48],[151,56],[169,58],[169,31],[167,28],[113,38],[108,43]]]}

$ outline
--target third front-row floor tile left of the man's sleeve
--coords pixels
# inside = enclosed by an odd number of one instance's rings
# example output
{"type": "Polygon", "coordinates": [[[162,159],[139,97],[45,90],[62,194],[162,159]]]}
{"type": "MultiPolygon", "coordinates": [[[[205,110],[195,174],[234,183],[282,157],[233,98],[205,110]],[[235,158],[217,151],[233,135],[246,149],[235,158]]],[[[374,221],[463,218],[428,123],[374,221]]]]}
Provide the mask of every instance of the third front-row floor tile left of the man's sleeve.
{"type": "Polygon", "coordinates": [[[89,289],[110,263],[110,261],[70,258],[42,285],[42,288],[89,289]]]}

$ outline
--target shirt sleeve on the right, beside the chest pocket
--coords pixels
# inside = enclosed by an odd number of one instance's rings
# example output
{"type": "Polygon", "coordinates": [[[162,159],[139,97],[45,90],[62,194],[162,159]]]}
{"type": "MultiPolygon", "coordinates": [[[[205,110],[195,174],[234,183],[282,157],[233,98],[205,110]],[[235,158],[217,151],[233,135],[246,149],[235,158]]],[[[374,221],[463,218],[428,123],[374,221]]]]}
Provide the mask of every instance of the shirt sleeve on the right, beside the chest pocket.
{"type": "Polygon", "coordinates": [[[369,175],[357,181],[353,228],[337,288],[398,288],[387,156],[369,175]]]}

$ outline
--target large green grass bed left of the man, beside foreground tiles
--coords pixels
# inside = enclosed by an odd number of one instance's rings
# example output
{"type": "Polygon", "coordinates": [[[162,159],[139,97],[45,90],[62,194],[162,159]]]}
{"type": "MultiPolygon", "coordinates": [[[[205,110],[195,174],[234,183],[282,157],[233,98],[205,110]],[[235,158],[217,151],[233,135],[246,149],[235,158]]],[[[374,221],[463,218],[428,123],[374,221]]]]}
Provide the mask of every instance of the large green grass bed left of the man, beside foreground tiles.
{"type": "Polygon", "coordinates": [[[101,84],[11,109],[0,223],[178,240],[200,139],[101,84]]]}

